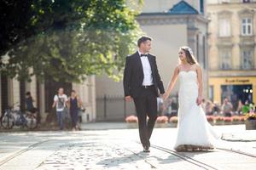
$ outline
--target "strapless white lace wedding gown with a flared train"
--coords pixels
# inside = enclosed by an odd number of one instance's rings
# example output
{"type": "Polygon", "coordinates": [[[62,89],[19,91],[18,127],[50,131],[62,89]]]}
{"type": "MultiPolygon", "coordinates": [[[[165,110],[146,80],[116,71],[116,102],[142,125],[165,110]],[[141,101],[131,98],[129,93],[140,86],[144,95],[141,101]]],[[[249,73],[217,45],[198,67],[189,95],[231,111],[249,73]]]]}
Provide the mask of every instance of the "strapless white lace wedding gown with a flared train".
{"type": "Polygon", "coordinates": [[[184,145],[212,149],[218,136],[207,122],[201,105],[196,104],[198,97],[197,73],[195,71],[179,71],[178,77],[180,81],[179,108],[177,140],[174,149],[179,150],[184,145]]]}

